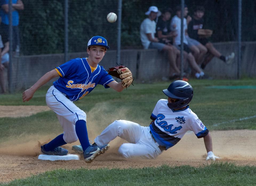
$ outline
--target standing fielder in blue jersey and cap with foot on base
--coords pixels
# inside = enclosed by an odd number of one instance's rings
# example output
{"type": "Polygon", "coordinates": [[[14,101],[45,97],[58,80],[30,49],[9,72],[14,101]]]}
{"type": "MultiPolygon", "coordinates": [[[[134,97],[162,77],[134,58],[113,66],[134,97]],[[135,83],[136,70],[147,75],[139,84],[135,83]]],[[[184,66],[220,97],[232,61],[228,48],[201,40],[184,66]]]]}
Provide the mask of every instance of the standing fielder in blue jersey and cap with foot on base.
{"type": "MultiPolygon", "coordinates": [[[[121,92],[132,81],[128,81],[126,84],[117,83],[102,66],[99,66],[98,63],[109,49],[105,38],[94,36],[89,40],[87,46],[88,58],[72,59],[47,72],[31,88],[22,93],[22,99],[23,102],[29,101],[38,88],[54,77],[60,76],[47,91],[46,103],[57,114],[63,133],[41,146],[41,151],[49,155],[66,155],[68,150],[59,146],[73,143],[79,139],[85,161],[89,163],[97,155],[104,153],[109,148],[109,144],[90,145],[86,128],[86,114],[74,104],[74,101],[85,97],[97,84],[121,92]]],[[[122,72],[129,72],[131,76],[129,79],[132,78],[128,68],[121,69],[122,72]]]]}

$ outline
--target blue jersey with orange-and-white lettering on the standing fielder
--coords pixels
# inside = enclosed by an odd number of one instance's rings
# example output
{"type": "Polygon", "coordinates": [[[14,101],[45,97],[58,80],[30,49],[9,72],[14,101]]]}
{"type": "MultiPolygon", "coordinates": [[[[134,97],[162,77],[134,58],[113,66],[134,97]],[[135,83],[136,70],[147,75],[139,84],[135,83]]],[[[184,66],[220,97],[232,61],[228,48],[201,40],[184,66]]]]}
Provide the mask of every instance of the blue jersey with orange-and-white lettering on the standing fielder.
{"type": "Polygon", "coordinates": [[[97,84],[109,88],[107,84],[114,81],[102,66],[91,72],[86,58],[72,59],[55,69],[61,76],[53,82],[55,88],[66,94],[70,101],[77,101],[89,94],[97,84]]]}

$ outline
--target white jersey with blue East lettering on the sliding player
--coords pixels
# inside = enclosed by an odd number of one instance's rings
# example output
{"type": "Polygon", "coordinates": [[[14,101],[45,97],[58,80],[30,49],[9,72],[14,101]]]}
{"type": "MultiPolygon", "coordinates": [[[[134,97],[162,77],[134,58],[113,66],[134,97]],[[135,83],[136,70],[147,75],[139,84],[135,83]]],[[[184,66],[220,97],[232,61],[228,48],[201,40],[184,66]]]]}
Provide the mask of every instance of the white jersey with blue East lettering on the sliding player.
{"type": "Polygon", "coordinates": [[[159,145],[168,149],[177,144],[187,131],[193,131],[198,138],[208,134],[208,129],[189,106],[175,111],[167,103],[168,100],[159,100],[150,116],[155,120],[150,124],[150,131],[159,145]]]}

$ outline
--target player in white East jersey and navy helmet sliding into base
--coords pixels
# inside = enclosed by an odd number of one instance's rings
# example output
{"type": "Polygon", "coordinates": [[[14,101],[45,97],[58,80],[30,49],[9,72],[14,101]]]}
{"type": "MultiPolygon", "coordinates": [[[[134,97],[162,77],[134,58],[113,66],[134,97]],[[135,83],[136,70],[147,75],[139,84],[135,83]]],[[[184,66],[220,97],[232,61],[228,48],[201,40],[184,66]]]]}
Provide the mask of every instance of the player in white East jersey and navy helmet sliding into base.
{"type": "MultiPolygon", "coordinates": [[[[118,150],[123,157],[156,158],[164,150],[177,144],[187,131],[193,131],[198,138],[204,139],[206,160],[219,159],[213,153],[208,129],[189,108],[188,104],[193,97],[192,86],[186,81],[178,80],[171,83],[163,93],[168,99],[157,102],[150,116],[152,122],[149,127],[116,120],[94,139],[95,143],[107,144],[119,136],[129,142],[122,144],[118,150]]],[[[72,149],[82,152],[79,145],[74,145],[72,149]]]]}

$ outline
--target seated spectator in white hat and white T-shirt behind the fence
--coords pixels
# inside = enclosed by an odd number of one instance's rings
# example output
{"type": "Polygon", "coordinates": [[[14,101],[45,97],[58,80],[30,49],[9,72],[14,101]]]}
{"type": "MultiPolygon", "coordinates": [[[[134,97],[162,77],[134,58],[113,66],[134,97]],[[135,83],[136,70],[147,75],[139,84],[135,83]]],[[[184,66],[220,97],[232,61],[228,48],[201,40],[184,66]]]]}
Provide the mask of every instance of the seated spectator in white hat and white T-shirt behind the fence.
{"type": "Polygon", "coordinates": [[[177,67],[176,59],[179,57],[179,50],[174,46],[160,43],[158,38],[155,37],[156,23],[155,19],[161,15],[161,12],[156,6],[149,7],[149,10],[145,13],[148,18],[144,19],[140,27],[141,42],[144,49],[158,49],[160,51],[165,50],[168,53],[168,60],[170,61],[172,70],[176,74],[180,74],[180,70],[177,67]]]}

